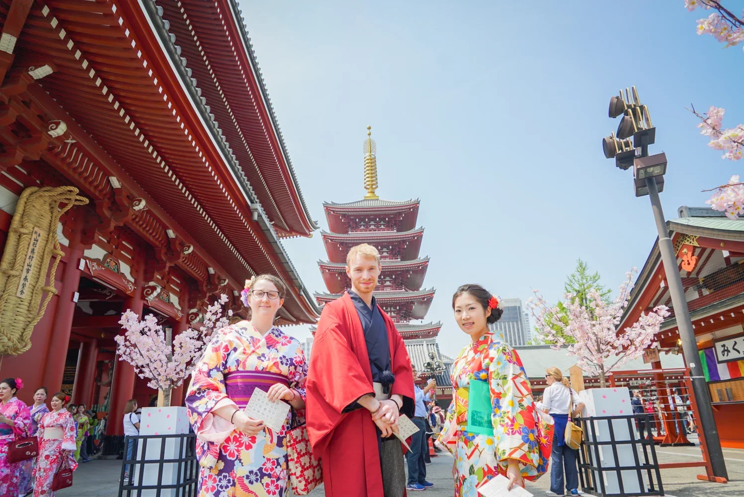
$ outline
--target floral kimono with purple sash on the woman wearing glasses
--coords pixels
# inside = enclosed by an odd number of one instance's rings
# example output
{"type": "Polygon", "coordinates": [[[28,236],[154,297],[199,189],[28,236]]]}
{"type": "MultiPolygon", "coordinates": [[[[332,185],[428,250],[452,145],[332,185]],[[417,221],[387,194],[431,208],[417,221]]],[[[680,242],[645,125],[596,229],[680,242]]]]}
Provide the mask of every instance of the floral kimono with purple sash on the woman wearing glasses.
{"type": "Polygon", "coordinates": [[[300,342],[277,327],[261,336],[248,321],[222,328],[193,372],[186,406],[197,435],[199,497],[278,496],[287,487],[284,437],[290,414],[279,432],[266,428],[245,435],[211,414],[225,405],[244,408],[255,388],[268,391],[283,382],[305,400],[307,362],[300,342]]]}

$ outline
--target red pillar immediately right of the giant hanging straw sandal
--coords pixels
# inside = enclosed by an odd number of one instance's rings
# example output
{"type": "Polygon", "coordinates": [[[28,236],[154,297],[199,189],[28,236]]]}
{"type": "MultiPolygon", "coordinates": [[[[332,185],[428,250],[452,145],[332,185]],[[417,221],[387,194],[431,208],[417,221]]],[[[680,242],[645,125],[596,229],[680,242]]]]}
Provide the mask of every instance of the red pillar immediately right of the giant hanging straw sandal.
{"type": "Polygon", "coordinates": [[[49,339],[49,353],[44,369],[43,383],[49,389],[50,394],[58,392],[62,388],[62,375],[65,373],[72,318],[75,313],[74,295],[80,285],[80,258],[83,257],[83,251],[85,251],[85,247],[80,243],[82,230],[72,229],[70,231],[69,245],[66,249],[62,247],[67,263],[62,275],[62,286],[60,292],[57,293],[57,310],[54,313],[54,324],[52,324],[49,339]]]}

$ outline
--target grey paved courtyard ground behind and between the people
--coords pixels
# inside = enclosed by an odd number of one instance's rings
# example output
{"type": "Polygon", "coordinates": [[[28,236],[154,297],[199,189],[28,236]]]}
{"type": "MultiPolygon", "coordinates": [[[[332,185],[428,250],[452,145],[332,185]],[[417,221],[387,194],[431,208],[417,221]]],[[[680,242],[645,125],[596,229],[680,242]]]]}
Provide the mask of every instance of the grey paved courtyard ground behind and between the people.
{"type": "MultiPolygon", "coordinates": [[[[660,463],[700,461],[700,449],[697,447],[657,447],[660,463]]],[[[728,468],[728,484],[713,484],[699,481],[695,477],[702,468],[664,469],[661,480],[667,496],[674,497],[742,497],[744,496],[744,450],[724,449],[728,468]]],[[[434,484],[432,489],[414,493],[414,497],[452,497],[452,458],[441,455],[433,458],[427,467],[427,479],[434,484]]],[[[60,490],[57,497],[116,497],[118,481],[121,474],[121,460],[92,461],[81,464],[74,474],[73,487],[60,490]]],[[[527,490],[536,497],[545,495],[550,487],[550,478],[545,475],[536,483],[527,483],[527,490]]],[[[133,494],[134,495],[134,494],[133,494]]],[[[318,488],[311,497],[322,497],[322,488],[318,488]]]]}

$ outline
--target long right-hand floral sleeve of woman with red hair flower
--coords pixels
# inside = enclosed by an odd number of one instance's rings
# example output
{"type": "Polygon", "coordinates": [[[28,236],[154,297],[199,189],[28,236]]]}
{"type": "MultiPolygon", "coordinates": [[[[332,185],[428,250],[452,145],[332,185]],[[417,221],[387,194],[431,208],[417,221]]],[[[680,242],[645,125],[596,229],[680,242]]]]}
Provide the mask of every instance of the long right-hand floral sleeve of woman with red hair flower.
{"type": "Polygon", "coordinates": [[[509,459],[516,459],[523,476],[535,475],[539,449],[527,374],[517,353],[503,342],[492,342],[488,355],[496,460],[502,472],[506,471],[509,459]]]}

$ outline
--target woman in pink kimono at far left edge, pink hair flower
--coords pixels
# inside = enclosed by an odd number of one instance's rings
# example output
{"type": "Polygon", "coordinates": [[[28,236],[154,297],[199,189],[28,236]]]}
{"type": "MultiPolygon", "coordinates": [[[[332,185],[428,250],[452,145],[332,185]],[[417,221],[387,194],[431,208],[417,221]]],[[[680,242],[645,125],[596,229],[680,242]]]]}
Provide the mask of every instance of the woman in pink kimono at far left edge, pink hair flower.
{"type": "MultiPolygon", "coordinates": [[[[16,397],[23,388],[20,378],[6,378],[0,382],[0,496],[17,496],[25,474],[26,461],[7,462],[8,444],[28,437],[31,414],[28,407],[16,397]]],[[[30,468],[29,468],[30,469],[30,468]]]]}

